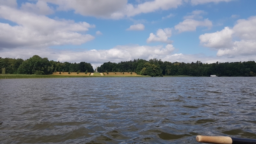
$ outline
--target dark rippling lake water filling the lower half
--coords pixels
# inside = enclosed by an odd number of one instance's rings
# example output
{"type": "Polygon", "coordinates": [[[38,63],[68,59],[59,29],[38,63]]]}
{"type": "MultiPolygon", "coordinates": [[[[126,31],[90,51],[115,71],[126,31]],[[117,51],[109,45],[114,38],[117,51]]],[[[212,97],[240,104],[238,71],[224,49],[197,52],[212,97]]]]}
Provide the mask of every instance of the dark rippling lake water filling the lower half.
{"type": "Polygon", "coordinates": [[[0,143],[256,138],[256,77],[0,80],[0,143]]]}

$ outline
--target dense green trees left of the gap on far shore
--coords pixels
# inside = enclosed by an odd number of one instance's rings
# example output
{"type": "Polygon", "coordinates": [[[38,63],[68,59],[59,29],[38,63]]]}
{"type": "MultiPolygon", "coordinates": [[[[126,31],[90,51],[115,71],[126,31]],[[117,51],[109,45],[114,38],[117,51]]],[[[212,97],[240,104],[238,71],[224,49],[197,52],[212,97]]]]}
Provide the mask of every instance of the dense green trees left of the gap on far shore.
{"type": "Polygon", "coordinates": [[[47,75],[52,72],[93,72],[93,66],[90,63],[60,63],[59,61],[48,60],[34,55],[32,58],[23,60],[20,58],[0,58],[0,73],[5,69],[6,74],[36,74],[47,75]]]}

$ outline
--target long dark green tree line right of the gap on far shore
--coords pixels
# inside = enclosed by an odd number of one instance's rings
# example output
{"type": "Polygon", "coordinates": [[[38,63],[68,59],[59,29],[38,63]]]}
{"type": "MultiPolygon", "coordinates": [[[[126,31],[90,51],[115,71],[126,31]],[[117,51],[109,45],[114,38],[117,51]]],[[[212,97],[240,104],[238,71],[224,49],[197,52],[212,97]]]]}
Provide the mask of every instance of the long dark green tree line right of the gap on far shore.
{"type": "Polygon", "coordinates": [[[136,72],[140,75],[163,76],[163,75],[189,75],[189,76],[256,76],[255,61],[226,62],[226,63],[183,63],[169,62],[161,59],[130,60],[120,63],[103,63],[99,72],[136,72]]]}

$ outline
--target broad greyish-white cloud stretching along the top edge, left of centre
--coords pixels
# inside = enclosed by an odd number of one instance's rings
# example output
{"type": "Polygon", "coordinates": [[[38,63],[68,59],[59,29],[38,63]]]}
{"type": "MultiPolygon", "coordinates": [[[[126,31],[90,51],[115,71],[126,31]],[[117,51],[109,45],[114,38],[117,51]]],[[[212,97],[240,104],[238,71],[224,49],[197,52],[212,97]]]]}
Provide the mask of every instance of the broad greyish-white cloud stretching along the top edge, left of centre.
{"type": "Polygon", "coordinates": [[[128,0],[44,0],[58,5],[59,11],[74,10],[76,14],[84,16],[120,19],[132,17],[141,13],[168,10],[180,6],[182,0],[153,0],[137,5],[128,0]]]}

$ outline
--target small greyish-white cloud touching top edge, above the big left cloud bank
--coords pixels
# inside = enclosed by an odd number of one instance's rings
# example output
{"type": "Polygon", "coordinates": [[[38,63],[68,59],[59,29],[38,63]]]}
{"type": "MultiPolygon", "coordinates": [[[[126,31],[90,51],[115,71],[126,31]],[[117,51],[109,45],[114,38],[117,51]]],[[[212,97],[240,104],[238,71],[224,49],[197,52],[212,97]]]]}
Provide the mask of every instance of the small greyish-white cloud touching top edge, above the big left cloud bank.
{"type": "Polygon", "coordinates": [[[32,12],[35,14],[43,14],[43,15],[48,15],[48,14],[53,14],[54,10],[51,9],[46,2],[42,0],[38,0],[36,4],[33,3],[23,3],[20,7],[23,11],[26,12],[32,12]]]}

